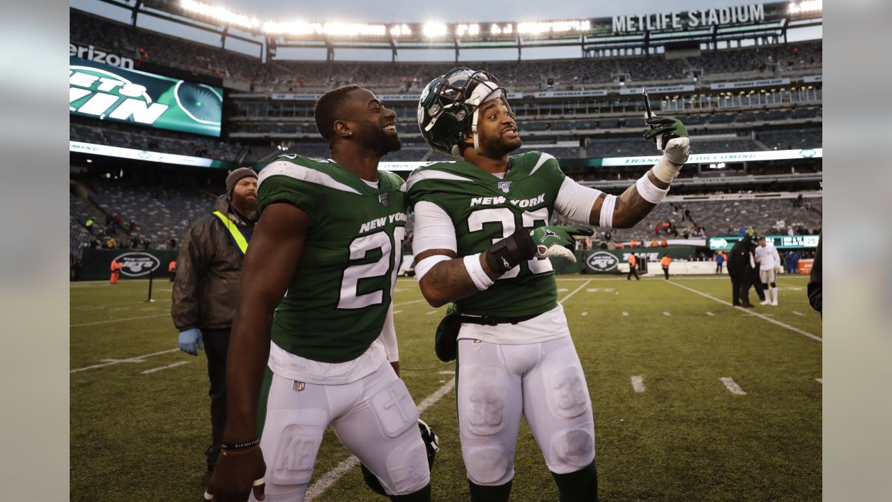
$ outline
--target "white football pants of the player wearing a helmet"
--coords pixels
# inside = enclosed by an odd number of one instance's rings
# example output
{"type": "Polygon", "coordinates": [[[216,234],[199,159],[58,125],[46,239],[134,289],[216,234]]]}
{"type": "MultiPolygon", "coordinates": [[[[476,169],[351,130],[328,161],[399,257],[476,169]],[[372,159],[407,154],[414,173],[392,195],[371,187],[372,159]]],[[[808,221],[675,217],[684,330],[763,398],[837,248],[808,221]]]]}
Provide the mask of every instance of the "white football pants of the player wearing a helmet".
{"type": "Polygon", "coordinates": [[[459,339],[457,383],[461,451],[475,484],[514,478],[521,414],[551,472],[573,473],[594,460],[589,389],[569,336],[525,345],[459,339]]]}

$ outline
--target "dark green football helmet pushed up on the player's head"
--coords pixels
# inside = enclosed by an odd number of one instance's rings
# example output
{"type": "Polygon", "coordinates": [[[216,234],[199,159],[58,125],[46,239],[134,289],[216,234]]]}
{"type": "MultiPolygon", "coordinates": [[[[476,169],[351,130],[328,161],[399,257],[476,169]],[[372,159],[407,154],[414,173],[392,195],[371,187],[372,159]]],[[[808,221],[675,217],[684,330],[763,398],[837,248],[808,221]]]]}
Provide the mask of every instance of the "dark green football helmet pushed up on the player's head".
{"type": "Polygon", "coordinates": [[[492,99],[501,99],[511,111],[505,88],[486,71],[453,68],[431,80],[418,100],[418,128],[425,143],[437,152],[461,158],[459,145],[472,137],[479,153],[477,110],[492,99]]]}

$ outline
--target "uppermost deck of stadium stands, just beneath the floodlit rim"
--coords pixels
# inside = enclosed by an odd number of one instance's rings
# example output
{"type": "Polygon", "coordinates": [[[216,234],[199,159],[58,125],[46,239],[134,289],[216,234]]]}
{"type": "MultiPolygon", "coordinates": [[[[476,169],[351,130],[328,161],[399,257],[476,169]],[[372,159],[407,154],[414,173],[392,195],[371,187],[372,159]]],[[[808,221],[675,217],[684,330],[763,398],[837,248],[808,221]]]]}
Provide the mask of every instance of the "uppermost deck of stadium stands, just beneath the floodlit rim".
{"type": "MultiPolygon", "coordinates": [[[[378,92],[416,92],[455,63],[322,63],[275,60],[261,64],[259,57],[219,47],[172,38],[146,29],[134,29],[70,9],[70,40],[107,48],[118,54],[194,71],[202,75],[251,82],[255,91],[318,92],[344,84],[359,84],[378,92]]],[[[733,73],[754,74],[820,70],[822,43],[800,42],[704,51],[696,57],[666,59],[663,54],[622,58],[588,58],[516,62],[460,62],[497,75],[510,90],[567,90],[607,84],[627,73],[633,81],[687,82],[690,71],[701,77],[733,73]],[[775,66],[777,67],[775,69],[775,66]],[[687,73],[686,73],[687,71],[687,73]],[[551,83],[549,83],[549,79],[551,83]]]]}

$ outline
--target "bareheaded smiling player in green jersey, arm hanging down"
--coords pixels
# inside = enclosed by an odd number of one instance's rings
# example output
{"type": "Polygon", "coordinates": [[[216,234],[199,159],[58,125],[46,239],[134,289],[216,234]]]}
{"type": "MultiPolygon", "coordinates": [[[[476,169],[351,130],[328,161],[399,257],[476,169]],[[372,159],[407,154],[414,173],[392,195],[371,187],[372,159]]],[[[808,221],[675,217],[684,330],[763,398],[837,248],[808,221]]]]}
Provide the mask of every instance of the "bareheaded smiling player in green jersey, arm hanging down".
{"type": "Polygon", "coordinates": [[[351,86],[319,97],[315,118],[330,159],[282,155],[260,172],[205,498],[300,502],[331,425],[389,498],[426,502],[428,452],[393,330],[405,188],[377,171],[401,146],[396,113],[351,86]]]}

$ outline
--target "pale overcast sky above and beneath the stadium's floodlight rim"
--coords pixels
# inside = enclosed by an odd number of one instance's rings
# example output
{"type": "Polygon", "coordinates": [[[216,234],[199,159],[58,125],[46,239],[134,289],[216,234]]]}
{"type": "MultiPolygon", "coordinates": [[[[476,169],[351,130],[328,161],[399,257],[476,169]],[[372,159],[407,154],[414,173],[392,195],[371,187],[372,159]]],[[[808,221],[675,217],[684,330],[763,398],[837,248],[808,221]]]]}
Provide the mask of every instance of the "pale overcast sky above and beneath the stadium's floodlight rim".
{"type": "MultiPolygon", "coordinates": [[[[176,0],[173,0],[176,1],[176,0]]],[[[621,0],[615,2],[592,2],[591,0],[516,0],[496,2],[492,0],[452,0],[449,2],[421,2],[419,0],[331,0],[328,2],[306,2],[294,0],[202,0],[218,4],[236,13],[257,17],[260,21],[342,21],[342,22],[518,22],[518,21],[557,21],[565,19],[586,19],[612,17],[621,14],[648,14],[663,12],[685,12],[690,10],[713,9],[732,5],[753,4],[746,0],[621,0]]],[[[770,2],[765,2],[770,3],[770,2]]],[[[70,0],[73,8],[109,17],[116,21],[129,22],[129,13],[124,9],[100,0],[70,0]]],[[[205,44],[219,46],[219,37],[199,30],[187,29],[169,22],[159,21],[150,16],[141,16],[138,25],[145,29],[162,31],[182,38],[193,39],[205,44]]],[[[821,28],[801,29],[790,33],[790,41],[797,39],[821,38],[821,28]]],[[[257,54],[248,44],[239,46],[237,41],[227,42],[227,48],[257,54]]],[[[324,51],[288,49],[288,58],[325,59],[324,51]]],[[[465,61],[516,59],[514,49],[490,49],[464,51],[465,61]]],[[[579,57],[578,49],[561,47],[557,49],[524,49],[524,59],[550,57],[579,57]]],[[[279,56],[282,57],[283,51],[279,56]]],[[[404,50],[401,61],[431,61],[452,59],[452,51],[404,50]],[[442,53],[442,54],[439,54],[442,53]]],[[[338,50],[335,59],[340,61],[390,60],[389,51],[338,50]],[[379,52],[381,54],[373,55],[379,52]]]]}

